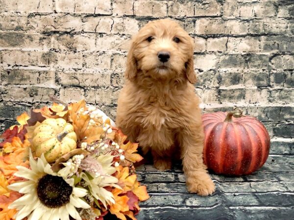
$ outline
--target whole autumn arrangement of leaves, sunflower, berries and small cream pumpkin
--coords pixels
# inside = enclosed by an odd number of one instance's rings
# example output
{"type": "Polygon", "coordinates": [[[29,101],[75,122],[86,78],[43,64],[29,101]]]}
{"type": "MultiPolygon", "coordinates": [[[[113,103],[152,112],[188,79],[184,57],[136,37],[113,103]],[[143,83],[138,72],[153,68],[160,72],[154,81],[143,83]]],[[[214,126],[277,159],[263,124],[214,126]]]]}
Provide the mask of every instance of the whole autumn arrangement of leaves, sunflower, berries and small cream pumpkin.
{"type": "Polygon", "coordinates": [[[135,220],[138,144],[84,100],[31,109],[0,143],[1,220],[135,220]]]}

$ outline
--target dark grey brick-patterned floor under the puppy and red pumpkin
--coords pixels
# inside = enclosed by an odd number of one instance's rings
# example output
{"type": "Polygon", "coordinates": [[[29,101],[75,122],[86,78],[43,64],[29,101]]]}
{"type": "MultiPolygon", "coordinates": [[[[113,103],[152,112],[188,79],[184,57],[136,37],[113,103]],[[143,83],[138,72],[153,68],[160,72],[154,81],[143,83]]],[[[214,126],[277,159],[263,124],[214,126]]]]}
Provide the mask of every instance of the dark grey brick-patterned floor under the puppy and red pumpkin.
{"type": "Polygon", "coordinates": [[[138,220],[294,220],[294,155],[270,155],[249,176],[212,174],[216,192],[209,197],[187,192],[180,166],[159,172],[141,165],[137,175],[150,195],[138,220]]]}

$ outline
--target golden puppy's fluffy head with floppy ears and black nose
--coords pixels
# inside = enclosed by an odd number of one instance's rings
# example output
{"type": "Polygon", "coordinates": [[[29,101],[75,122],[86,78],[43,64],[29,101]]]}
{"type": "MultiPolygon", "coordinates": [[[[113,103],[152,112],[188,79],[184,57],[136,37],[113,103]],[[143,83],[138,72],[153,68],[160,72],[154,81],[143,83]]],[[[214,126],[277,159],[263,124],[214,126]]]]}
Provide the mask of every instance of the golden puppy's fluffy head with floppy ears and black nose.
{"type": "Polygon", "coordinates": [[[194,40],[178,23],[168,19],[148,22],[133,37],[125,77],[133,80],[142,71],[154,79],[185,75],[195,83],[193,53],[194,40]]]}

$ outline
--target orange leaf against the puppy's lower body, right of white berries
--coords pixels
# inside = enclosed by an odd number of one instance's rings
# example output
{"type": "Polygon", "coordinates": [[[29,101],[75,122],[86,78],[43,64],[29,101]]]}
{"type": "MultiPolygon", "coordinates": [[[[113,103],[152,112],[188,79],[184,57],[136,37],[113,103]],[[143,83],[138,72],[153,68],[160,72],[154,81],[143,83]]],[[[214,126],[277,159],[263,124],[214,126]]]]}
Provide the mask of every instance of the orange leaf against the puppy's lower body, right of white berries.
{"type": "MultiPolygon", "coordinates": [[[[126,144],[124,144],[126,138],[127,136],[124,135],[121,130],[118,130],[115,134],[114,141],[120,145],[121,149],[123,149],[126,160],[132,163],[141,161],[143,157],[140,154],[136,154],[138,143],[132,143],[128,141],[126,144]]],[[[127,165],[130,165],[130,163],[126,164],[126,166],[127,165]]]]}

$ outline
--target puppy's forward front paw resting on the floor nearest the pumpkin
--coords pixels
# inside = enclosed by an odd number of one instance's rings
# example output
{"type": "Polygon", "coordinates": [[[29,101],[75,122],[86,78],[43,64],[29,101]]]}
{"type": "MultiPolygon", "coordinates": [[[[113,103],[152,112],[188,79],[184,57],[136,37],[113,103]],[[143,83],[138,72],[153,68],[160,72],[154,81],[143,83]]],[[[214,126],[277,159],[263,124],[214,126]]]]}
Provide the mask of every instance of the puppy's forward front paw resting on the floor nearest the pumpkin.
{"type": "Polygon", "coordinates": [[[208,196],[215,191],[215,184],[208,174],[203,176],[187,176],[186,184],[190,193],[197,193],[199,196],[208,196]],[[199,178],[200,177],[200,178],[199,178]]]}

